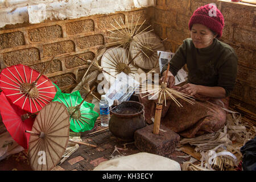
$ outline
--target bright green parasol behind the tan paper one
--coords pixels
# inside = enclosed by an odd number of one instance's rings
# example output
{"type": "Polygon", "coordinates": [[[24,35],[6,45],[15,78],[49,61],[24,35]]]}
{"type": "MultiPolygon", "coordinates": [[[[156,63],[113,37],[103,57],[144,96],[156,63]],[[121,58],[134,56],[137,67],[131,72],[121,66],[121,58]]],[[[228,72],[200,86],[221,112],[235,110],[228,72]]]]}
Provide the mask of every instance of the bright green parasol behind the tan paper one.
{"type": "MultiPolygon", "coordinates": [[[[84,99],[85,100],[85,99],[84,99]]],[[[70,115],[70,129],[74,132],[92,130],[98,118],[98,113],[93,111],[94,104],[84,101],[79,90],[73,93],[57,92],[52,102],[63,103],[70,115]]]]}

